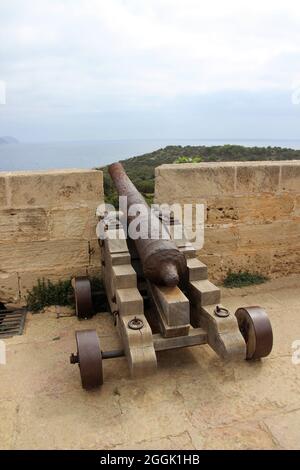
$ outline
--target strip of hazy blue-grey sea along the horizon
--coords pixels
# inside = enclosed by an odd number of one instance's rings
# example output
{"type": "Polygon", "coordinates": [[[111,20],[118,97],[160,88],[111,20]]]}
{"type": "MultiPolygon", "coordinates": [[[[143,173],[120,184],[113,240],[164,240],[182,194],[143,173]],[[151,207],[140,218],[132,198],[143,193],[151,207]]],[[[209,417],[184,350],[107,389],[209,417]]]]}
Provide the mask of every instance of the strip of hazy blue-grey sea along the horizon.
{"type": "Polygon", "coordinates": [[[0,171],[96,168],[167,145],[224,145],[300,149],[299,140],[144,139],[98,140],[0,145],[0,171]]]}

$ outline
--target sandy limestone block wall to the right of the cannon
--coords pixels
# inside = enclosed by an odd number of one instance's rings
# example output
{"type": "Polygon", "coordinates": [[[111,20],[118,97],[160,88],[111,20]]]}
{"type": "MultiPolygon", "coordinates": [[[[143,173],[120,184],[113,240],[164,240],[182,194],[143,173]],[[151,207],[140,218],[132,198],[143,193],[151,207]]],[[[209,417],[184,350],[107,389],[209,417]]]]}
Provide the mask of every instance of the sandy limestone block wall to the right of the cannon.
{"type": "Polygon", "coordinates": [[[300,161],[162,165],[155,199],[205,204],[199,257],[212,279],[300,272],[300,161]]]}

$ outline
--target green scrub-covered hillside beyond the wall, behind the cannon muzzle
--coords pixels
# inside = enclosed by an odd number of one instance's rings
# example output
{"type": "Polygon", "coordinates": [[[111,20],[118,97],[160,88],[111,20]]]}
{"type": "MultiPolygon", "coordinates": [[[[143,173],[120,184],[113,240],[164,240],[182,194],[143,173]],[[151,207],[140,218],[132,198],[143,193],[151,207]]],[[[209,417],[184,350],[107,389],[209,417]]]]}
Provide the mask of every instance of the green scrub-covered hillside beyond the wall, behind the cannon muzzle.
{"type": "MultiPolygon", "coordinates": [[[[300,150],[281,147],[244,147],[242,145],[217,145],[206,147],[169,145],[137,157],[122,160],[129,178],[138,190],[151,203],[154,193],[154,170],[164,163],[222,162],[222,161],[261,161],[261,160],[300,160],[300,150]]],[[[117,206],[118,196],[112,180],[104,170],[104,190],[106,202],[117,206]]]]}

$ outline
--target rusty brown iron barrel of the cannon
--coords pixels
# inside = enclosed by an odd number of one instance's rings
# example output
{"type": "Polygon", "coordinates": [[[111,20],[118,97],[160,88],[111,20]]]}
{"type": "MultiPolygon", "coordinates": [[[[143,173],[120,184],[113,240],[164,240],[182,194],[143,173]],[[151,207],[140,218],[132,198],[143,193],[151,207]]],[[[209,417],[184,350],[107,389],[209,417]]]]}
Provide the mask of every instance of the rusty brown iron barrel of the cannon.
{"type": "MultiPolygon", "coordinates": [[[[171,239],[167,228],[150,210],[121,163],[110,165],[109,174],[119,196],[127,197],[128,222],[134,222],[137,217],[139,219],[140,235],[134,238],[133,242],[141,260],[144,276],[154,284],[170,287],[184,281],[187,276],[186,259],[171,239]],[[130,208],[133,209],[137,204],[141,205],[143,210],[132,215],[134,211],[131,212],[130,208]]],[[[130,231],[128,236],[130,237],[130,231]]]]}

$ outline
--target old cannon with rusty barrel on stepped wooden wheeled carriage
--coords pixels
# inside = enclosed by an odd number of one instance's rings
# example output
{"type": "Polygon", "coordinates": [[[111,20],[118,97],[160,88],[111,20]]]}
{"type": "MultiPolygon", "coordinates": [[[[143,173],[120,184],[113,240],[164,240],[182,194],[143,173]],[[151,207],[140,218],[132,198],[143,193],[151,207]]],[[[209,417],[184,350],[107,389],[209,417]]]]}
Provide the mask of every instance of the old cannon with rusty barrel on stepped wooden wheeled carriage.
{"type": "MultiPolygon", "coordinates": [[[[220,289],[208,280],[207,266],[192,243],[172,237],[181,222],[150,209],[120,163],[111,165],[109,173],[119,195],[127,198],[127,213],[97,211],[99,261],[123,348],[102,351],[95,330],[77,331],[77,352],[70,361],[79,365],[83,388],[102,385],[103,360],[120,356],[126,356],[133,377],[154,373],[156,353],[176,348],[208,344],[225,360],[268,356],[273,334],[265,310],[239,307],[233,314],[222,305],[220,289]],[[134,206],[143,210],[134,214],[134,206]],[[141,236],[132,237],[128,225],[137,217],[141,236]]],[[[90,317],[89,281],[74,279],[74,289],[78,316],[90,317]]]]}

